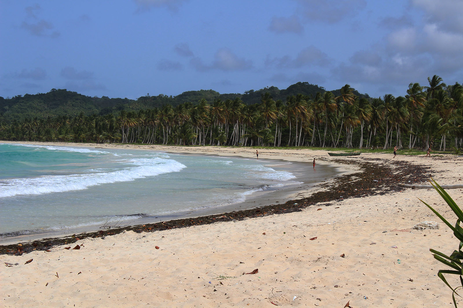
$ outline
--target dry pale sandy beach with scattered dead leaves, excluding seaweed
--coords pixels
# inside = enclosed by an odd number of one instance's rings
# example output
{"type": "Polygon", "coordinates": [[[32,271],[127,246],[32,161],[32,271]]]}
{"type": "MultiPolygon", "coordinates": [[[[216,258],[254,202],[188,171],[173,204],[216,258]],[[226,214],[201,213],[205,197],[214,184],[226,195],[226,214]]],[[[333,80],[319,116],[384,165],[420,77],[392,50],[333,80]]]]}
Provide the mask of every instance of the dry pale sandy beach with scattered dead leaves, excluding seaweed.
{"type": "MultiPolygon", "coordinates": [[[[255,157],[252,148],[76,146],[255,157]]],[[[262,149],[259,158],[307,163],[315,158],[317,164],[339,164],[326,151],[308,149],[262,149]]],[[[392,154],[349,159],[391,165],[393,172],[397,167],[392,162],[401,161],[423,166],[441,185],[463,184],[462,157],[405,156],[399,151],[394,159],[392,154]]],[[[342,167],[346,172],[357,169],[342,167]]],[[[463,204],[463,189],[447,191],[463,204]]],[[[2,305],[343,308],[349,302],[354,308],[453,307],[450,289],[437,276],[439,269],[447,268],[433,259],[429,248],[450,254],[458,240],[418,198],[455,223],[435,190],[402,188],[280,215],[155,232],[125,231],[49,252],[4,254],[2,305]],[[411,229],[423,221],[435,221],[440,228],[411,229]],[[77,245],[80,249],[72,249],[77,245]]],[[[455,278],[449,282],[458,285],[455,278]]]]}

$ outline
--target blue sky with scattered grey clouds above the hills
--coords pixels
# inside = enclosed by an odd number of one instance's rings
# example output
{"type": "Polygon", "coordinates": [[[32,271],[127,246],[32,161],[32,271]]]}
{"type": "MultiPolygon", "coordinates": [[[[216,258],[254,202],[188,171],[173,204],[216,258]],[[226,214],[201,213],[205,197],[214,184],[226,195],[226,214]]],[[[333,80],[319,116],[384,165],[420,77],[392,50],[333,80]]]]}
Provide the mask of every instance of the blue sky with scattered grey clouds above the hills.
{"type": "Polygon", "coordinates": [[[462,0],[0,0],[0,96],[463,82],[462,0]]]}

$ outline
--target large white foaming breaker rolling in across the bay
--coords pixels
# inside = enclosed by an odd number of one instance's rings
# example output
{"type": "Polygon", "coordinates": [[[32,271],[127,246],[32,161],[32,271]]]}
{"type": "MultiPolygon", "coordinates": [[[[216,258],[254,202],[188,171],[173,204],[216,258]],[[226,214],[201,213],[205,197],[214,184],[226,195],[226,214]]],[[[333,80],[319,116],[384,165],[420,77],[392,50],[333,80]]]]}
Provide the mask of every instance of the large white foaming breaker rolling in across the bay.
{"type": "Polygon", "coordinates": [[[135,166],[109,172],[4,180],[0,182],[0,198],[82,190],[95,185],[134,181],[148,176],[178,172],[186,168],[182,163],[163,158],[138,158],[128,163],[135,166]]]}

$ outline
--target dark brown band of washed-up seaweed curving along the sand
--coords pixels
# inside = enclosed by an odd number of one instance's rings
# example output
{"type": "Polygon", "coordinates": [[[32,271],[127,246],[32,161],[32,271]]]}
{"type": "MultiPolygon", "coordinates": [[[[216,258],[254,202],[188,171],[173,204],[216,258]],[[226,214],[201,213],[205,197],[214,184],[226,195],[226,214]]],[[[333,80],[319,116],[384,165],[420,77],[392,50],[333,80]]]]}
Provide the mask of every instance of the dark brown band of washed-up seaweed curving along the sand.
{"type": "MultiPolygon", "coordinates": [[[[361,158],[365,159],[365,158],[361,158]]],[[[252,217],[263,217],[275,214],[291,213],[302,211],[308,206],[317,203],[347,199],[352,197],[366,197],[371,195],[383,195],[385,193],[401,191],[399,183],[419,184],[427,181],[431,175],[429,169],[420,165],[414,165],[402,161],[385,161],[381,158],[368,159],[369,161],[352,161],[349,159],[335,159],[336,163],[355,164],[360,171],[354,174],[342,175],[331,183],[321,183],[322,191],[313,193],[309,197],[297,200],[289,200],[284,204],[265,205],[257,208],[232,211],[228,213],[215,214],[202,217],[175,219],[159,223],[146,223],[143,225],[125,226],[116,229],[104,229],[100,231],[84,232],[72,236],[45,238],[36,241],[23,242],[18,244],[0,245],[0,254],[20,255],[35,250],[47,251],[54,246],[69,245],[84,238],[97,238],[112,236],[132,230],[137,233],[154,232],[158,230],[183,228],[194,225],[210,224],[222,221],[239,221],[252,217]],[[378,161],[373,163],[371,160],[378,161]],[[425,174],[427,172],[427,175],[425,174]]],[[[328,203],[326,203],[328,202],[328,203]]]]}

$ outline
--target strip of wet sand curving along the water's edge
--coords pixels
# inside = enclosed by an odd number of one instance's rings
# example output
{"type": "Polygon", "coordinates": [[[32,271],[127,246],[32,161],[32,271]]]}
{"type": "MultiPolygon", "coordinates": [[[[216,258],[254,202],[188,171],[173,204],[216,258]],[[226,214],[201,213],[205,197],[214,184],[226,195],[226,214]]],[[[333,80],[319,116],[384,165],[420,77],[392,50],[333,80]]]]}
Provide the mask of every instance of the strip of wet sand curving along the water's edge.
{"type": "MultiPolygon", "coordinates": [[[[123,149],[123,150],[141,150],[141,151],[157,151],[157,152],[166,152],[166,153],[173,153],[173,154],[182,154],[182,155],[191,155],[191,156],[217,156],[217,157],[239,157],[239,158],[253,158],[254,152],[251,155],[246,155],[246,153],[232,153],[232,155],[218,155],[211,151],[201,151],[200,149],[195,149],[195,151],[185,151],[188,148],[181,148],[179,149],[172,149],[171,146],[138,146],[138,145],[114,145],[114,144],[103,144],[100,146],[96,146],[94,144],[78,144],[78,143],[51,143],[51,142],[6,142],[0,141],[1,143],[6,144],[30,144],[30,145],[43,145],[43,146],[70,146],[70,147],[82,147],[82,148],[90,148],[90,149],[123,149]],[[147,148],[148,147],[148,148],[147,148]],[[166,151],[169,150],[169,151],[166,151]],[[174,151],[175,150],[175,151],[174,151]],[[199,151],[198,151],[199,150],[199,151]],[[238,154],[238,155],[233,155],[238,154]],[[244,154],[244,155],[243,155],[244,154]]],[[[212,147],[215,149],[215,147],[212,147]]],[[[219,148],[220,149],[220,148],[219,148]]],[[[177,219],[187,219],[187,218],[197,218],[209,215],[216,215],[221,213],[227,213],[231,211],[242,211],[242,210],[249,210],[253,209],[262,205],[269,205],[273,203],[284,203],[288,200],[292,199],[300,199],[303,197],[310,196],[312,193],[317,192],[320,189],[321,182],[326,182],[327,180],[325,176],[328,175],[315,175],[315,178],[318,180],[311,179],[311,176],[314,176],[312,173],[306,171],[308,170],[309,163],[300,160],[291,159],[284,159],[284,157],[266,157],[263,158],[261,155],[260,161],[265,162],[264,165],[271,166],[275,169],[282,169],[284,171],[288,171],[296,175],[296,178],[293,181],[302,181],[302,184],[290,184],[286,187],[278,188],[271,191],[265,192],[256,192],[253,195],[248,196],[244,201],[232,203],[228,205],[221,205],[218,207],[206,207],[199,210],[188,210],[188,211],[181,211],[178,213],[174,213],[172,215],[155,215],[155,216],[147,216],[147,217],[140,217],[134,221],[126,221],[123,225],[128,226],[136,226],[142,224],[149,224],[149,223],[156,223],[160,221],[169,221],[169,220],[177,220],[177,219]],[[285,169],[281,167],[281,165],[287,165],[289,168],[285,169]]],[[[346,166],[342,164],[338,164],[337,166],[328,166],[328,168],[332,170],[336,170],[336,175],[330,178],[329,181],[335,181],[338,176],[342,176],[344,174],[356,172],[355,168],[352,166],[346,166]],[[346,168],[347,167],[347,168],[346,168]]],[[[310,163],[310,169],[312,169],[312,164],[310,163]]],[[[358,170],[357,170],[358,171],[358,170]]],[[[28,234],[20,234],[14,236],[7,236],[4,238],[0,238],[0,246],[11,245],[14,243],[19,242],[30,242],[30,241],[43,241],[48,238],[58,238],[58,237],[67,237],[71,236],[72,234],[83,234],[83,233],[92,233],[99,231],[102,228],[99,226],[84,226],[79,228],[71,228],[71,229],[62,229],[62,230],[50,230],[40,233],[28,233],[28,234]]]]}

